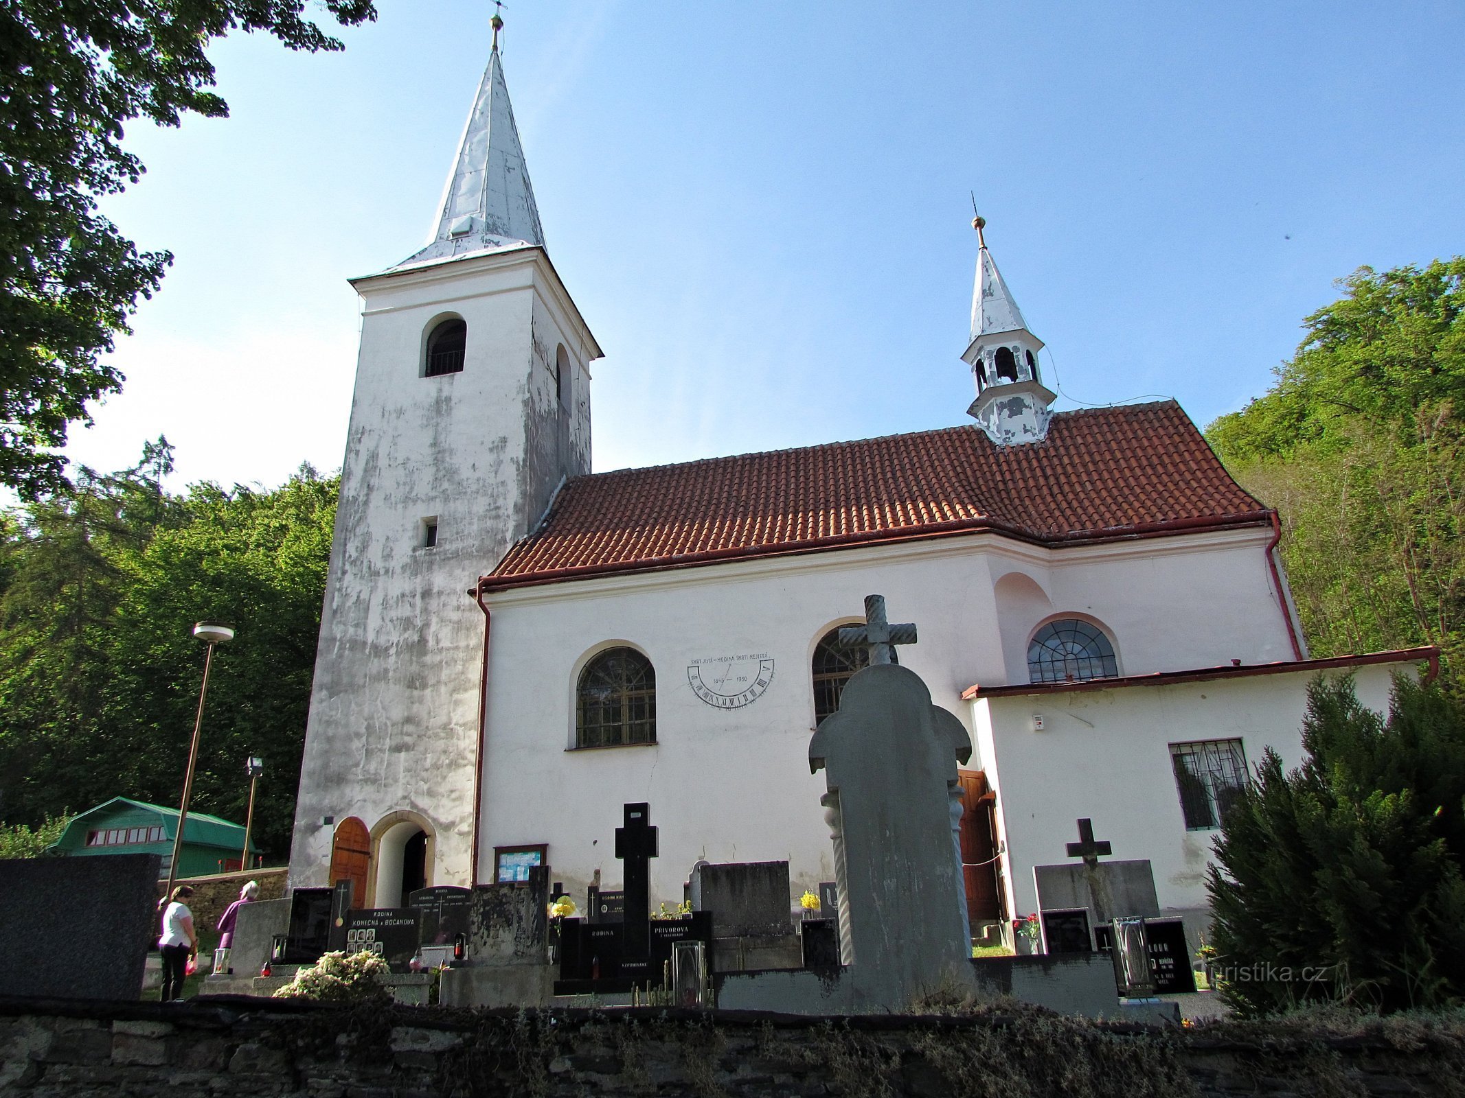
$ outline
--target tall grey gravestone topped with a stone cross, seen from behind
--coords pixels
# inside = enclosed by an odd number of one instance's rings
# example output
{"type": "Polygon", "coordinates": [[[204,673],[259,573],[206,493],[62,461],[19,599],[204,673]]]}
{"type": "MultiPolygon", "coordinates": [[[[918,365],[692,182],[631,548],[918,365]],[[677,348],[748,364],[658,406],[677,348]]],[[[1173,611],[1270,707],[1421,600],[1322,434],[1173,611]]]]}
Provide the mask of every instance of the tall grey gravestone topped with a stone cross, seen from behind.
{"type": "Polygon", "coordinates": [[[891,625],[885,600],[864,600],[867,624],[839,631],[866,644],[857,672],[809,742],[825,772],[825,818],[834,839],[841,959],[857,994],[888,1009],[955,976],[971,981],[971,938],[961,856],[954,843],[961,785],[971,758],[963,723],[930,703],[920,676],[895,663],[916,627],[891,625]]]}

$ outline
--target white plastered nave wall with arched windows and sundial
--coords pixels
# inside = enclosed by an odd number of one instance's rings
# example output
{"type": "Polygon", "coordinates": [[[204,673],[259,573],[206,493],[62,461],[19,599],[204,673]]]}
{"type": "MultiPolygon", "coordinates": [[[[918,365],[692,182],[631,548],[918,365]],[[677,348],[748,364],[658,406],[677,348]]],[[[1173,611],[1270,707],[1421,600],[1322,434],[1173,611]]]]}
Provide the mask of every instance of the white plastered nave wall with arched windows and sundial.
{"type": "MultiPolygon", "coordinates": [[[[479,878],[492,878],[494,846],[548,843],[552,877],[573,895],[596,871],[604,887],[617,887],[621,805],[648,801],[661,827],[658,900],[681,899],[699,858],[787,858],[795,892],[831,880],[825,779],[807,763],[809,654],[831,624],[861,613],[866,594],[886,596],[891,621],[917,624],[920,643],[900,651],[901,663],[970,729],[961,692],[1014,671],[1026,681],[1026,656],[1020,669],[1009,666],[1006,637],[1026,644],[1050,616],[1031,603],[1031,621],[999,621],[996,581],[1015,569],[1042,581],[1053,612],[1105,622],[1128,673],[1291,659],[1263,555],[1269,534],[1074,549],[979,534],[492,593],[479,878]],[[576,672],[611,640],[646,653],[656,671],[658,744],[567,750],[576,672]],[[735,710],[699,700],[689,665],[741,653],[774,657],[766,694],[735,710]]],[[[980,723],[976,731],[986,761],[992,747],[980,742],[980,723]]]]}

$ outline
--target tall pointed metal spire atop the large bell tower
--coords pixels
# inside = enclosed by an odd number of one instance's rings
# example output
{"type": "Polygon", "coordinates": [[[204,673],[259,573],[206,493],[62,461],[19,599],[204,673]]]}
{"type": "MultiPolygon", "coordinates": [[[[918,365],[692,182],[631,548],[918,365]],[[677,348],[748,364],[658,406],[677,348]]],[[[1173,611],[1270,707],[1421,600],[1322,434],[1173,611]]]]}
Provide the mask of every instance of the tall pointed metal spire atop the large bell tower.
{"type": "Polygon", "coordinates": [[[545,244],[498,57],[500,26],[502,20],[495,13],[494,48],[442,190],[432,239],[398,266],[513,244],[545,244]]]}

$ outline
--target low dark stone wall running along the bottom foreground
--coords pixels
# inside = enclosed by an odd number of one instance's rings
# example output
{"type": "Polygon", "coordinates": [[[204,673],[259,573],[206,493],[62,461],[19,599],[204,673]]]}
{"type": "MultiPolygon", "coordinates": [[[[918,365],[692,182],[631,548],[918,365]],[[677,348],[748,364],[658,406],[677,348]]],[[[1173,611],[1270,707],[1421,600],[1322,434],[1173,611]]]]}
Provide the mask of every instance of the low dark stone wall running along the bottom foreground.
{"type": "Polygon", "coordinates": [[[1465,1023],[1439,1019],[1175,1032],[1017,1004],[845,1020],[0,998],[0,1094],[32,1098],[1453,1095],[1462,1069],[1465,1023]]]}

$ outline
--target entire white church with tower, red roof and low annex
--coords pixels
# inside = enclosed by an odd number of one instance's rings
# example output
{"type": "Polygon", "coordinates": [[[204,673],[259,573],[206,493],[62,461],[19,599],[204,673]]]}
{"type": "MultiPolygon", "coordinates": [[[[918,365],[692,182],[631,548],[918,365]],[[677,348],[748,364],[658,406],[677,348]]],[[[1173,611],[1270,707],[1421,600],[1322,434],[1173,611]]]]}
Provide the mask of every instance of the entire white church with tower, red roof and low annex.
{"type": "MultiPolygon", "coordinates": [[[[1277,515],[1173,403],[1050,413],[980,239],[976,423],[590,474],[601,356],[544,243],[497,47],[431,242],[353,285],[360,357],[290,858],[360,906],[522,878],[617,889],[621,805],[693,864],[834,878],[809,738],[866,594],[976,748],[974,925],[1039,911],[1075,820],[1204,919],[1220,807],[1301,761],[1320,672],[1374,709],[1428,650],[1310,660],[1277,515]]],[[[793,902],[793,897],[791,897],[793,902]]],[[[1052,906],[1046,899],[1045,906],[1052,906]]]]}

